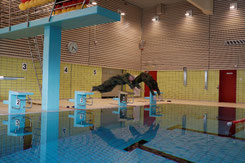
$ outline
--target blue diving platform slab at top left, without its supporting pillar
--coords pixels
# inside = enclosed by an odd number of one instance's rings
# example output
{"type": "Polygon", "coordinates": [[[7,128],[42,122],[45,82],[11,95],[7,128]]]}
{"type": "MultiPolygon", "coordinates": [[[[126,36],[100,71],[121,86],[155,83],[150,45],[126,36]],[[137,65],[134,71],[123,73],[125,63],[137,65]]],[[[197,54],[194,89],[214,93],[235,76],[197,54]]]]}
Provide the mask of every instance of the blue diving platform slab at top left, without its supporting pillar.
{"type": "Polygon", "coordinates": [[[47,25],[60,27],[61,30],[112,23],[120,21],[120,14],[111,10],[94,6],[67,13],[54,15],[0,29],[0,39],[20,39],[44,34],[47,25]]]}

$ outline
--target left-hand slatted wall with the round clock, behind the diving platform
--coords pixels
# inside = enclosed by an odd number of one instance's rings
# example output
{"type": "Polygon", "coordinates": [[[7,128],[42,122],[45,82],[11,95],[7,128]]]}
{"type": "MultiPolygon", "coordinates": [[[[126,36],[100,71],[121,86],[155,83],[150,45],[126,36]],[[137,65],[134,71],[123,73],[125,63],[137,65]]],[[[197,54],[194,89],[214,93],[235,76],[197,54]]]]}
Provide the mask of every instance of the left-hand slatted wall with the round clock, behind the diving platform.
{"type": "MultiPolygon", "coordinates": [[[[2,3],[6,6],[8,1],[2,3]]],[[[13,10],[19,11],[17,1],[13,10]]],[[[121,22],[104,24],[62,32],[61,61],[83,65],[95,65],[117,69],[140,69],[141,52],[138,43],[141,39],[142,10],[136,6],[125,4],[121,0],[100,0],[98,5],[116,11],[126,12],[121,22]],[[78,53],[70,54],[67,44],[77,42],[78,53]]],[[[41,12],[50,9],[51,5],[36,8],[30,12],[41,12]]],[[[8,14],[8,10],[2,11],[8,14]]],[[[1,12],[1,13],[2,13],[1,12]]],[[[26,11],[23,12],[25,14],[26,11]]],[[[14,15],[14,14],[13,14],[14,15]]],[[[48,16],[48,12],[40,17],[48,16]]],[[[37,17],[32,16],[31,20],[37,17]]],[[[7,18],[5,18],[7,20],[7,18]]],[[[24,20],[20,19],[20,22],[24,20]]],[[[12,22],[12,25],[17,24],[12,22]]],[[[1,27],[8,24],[2,23],[1,27]]],[[[0,40],[0,55],[29,58],[28,45],[25,39],[0,40]],[[11,48],[9,48],[11,47],[11,48]],[[21,50],[20,50],[21,47],[21,50]]]]}

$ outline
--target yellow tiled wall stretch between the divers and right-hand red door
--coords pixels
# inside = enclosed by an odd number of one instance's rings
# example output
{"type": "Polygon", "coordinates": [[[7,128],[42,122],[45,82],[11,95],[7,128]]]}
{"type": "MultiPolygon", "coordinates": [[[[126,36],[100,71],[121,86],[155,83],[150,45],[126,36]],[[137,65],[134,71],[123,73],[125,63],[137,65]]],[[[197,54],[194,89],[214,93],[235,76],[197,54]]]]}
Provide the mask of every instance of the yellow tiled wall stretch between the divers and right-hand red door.
{"type": "Polygon", "coordinates": [[[184,86],[183,71],[159,71],[158,86],[164,98],[182,100],[218,101],[219,71],[209,71],[208,90],[204,89],[204,71],[188,71],[184,86]]]}

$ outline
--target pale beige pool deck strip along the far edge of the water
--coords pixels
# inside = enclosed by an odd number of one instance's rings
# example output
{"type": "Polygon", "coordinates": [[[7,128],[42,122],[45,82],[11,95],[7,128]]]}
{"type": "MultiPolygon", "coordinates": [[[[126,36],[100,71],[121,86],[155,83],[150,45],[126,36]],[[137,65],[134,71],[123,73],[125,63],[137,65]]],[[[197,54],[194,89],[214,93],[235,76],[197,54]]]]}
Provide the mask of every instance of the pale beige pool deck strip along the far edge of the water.
{"type": "MultiPolygon", "coordinates": [[[[205,101],[190,101],[190,100],[171,100],[171,102],[158,101],[157,104],[182,104],[182,105],[199,105],[199,106],[216,106],[216,107],[232,107],[232,108],[245,108],[245,103],[220,103],[220,102],[205,102],[205,101]]],[[[128,106],[144,106],[149,105],[149,100],[144,98],[135,98],[133,104],[128,106]]],[[[68,100],[60,100],[59,111],[71,111],[74,103],[68,100]],[[69,108],[67,108],[69,106],[69,108]]],[[[87,106],[87,109],[108,109],[117,108],[117,101],[113,99],[94,99],[92,106],[87,106]]],[[[34,100],[31,109],[26,111],[27,113],[40,113],[45,112],[41,109],[41,100],[34,100]]],[[[0,102],[0,115],[8,115],[8,105],[0,102]]]]}

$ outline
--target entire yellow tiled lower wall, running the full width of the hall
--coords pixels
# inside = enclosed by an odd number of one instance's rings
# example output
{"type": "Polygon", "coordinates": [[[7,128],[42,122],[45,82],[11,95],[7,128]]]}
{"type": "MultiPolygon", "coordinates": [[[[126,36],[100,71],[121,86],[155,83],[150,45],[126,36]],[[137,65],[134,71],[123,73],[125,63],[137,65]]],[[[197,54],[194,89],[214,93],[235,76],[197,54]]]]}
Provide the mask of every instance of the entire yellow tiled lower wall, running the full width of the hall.
{"type": "MultiPolygon", "coordinates": [[[[141,71],[125,70],[124,73],[139,75],[141,71]]],[[[41,74],[38,69],[38,74],[41,74]]],[[[0,100],[8,99],[9,90],[33,92],[32,99],[41,99],[35,70],[30,59],[0,56],[0,76],[24,77],[23,80],[0,80],[0,100]],[[22,63],[27,64],[27,70],[22,70],[22,63]]],[[[39,77],[41,79],[41,77],[39,77]]],[[[157,77],[159,88],[164,92],[164,98],[218,101],[219,70],[210,70],[208,74],[208,90],[204,89],[204,71],[188,70],[187,86],[183,85],[183,71],[159,71],[157,77]]],[[[40,80],[42,84],[42,80],[40,80]]],[[[74,97],[74,92],[90,91],[92,86],[102,83],[102,68],[71,63],[61,63],[60,67],[60,99],[74,97]],[[64,72],[64,67],[68,72],[64,72]],[[96,74],[94,74],[96,70],[96,74]]],[[[144,84],[141,84],[141,96],[144,96],[144,84]]],[[[132,91],[129,86],[124,90],[132,91]]],[[[245,70],[237,71],[237,102],[245,102],[245,70]]],[[[95,98],[101,94],[95,92],[95,98]]]]}

